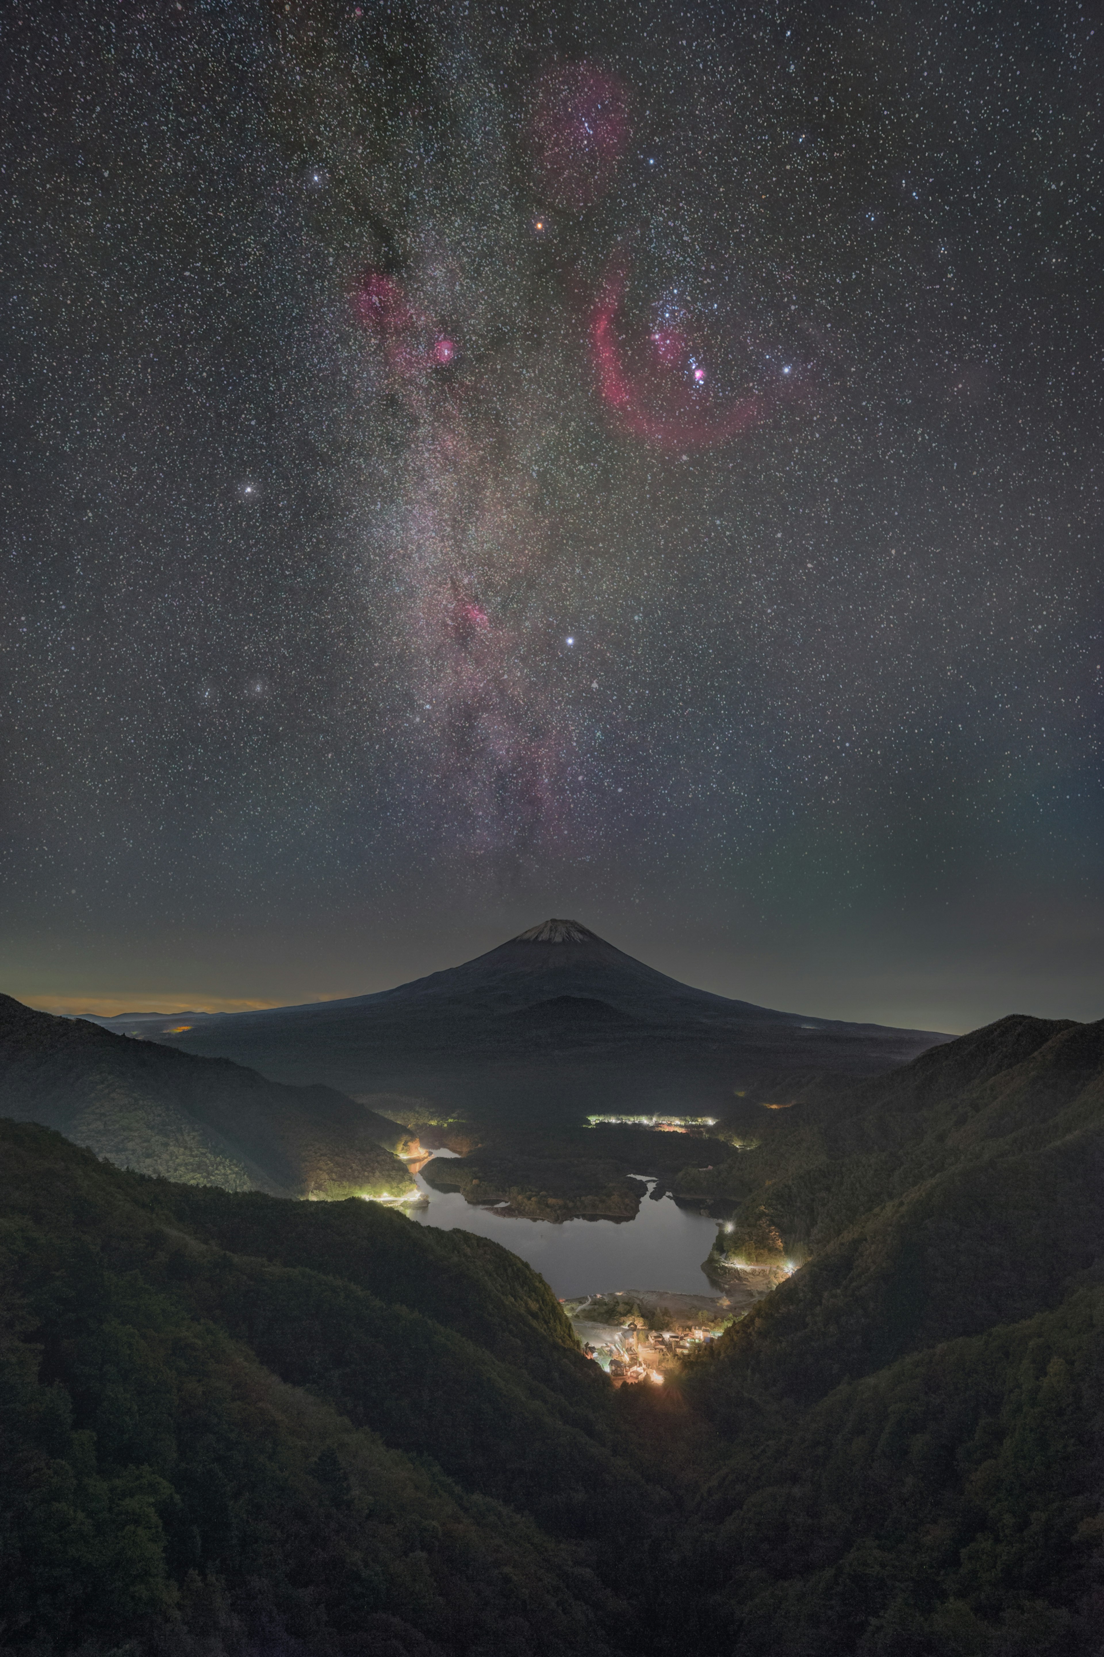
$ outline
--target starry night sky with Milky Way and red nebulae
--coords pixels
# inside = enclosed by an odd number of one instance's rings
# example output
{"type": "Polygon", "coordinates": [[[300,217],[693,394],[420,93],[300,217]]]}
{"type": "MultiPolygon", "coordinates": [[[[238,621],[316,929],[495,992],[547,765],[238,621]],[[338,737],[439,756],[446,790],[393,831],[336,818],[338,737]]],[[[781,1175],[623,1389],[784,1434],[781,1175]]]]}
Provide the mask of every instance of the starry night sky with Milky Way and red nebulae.
{"type": "Polygon", "coordinates": [[[1102,13],[12,0],[3,988],[1099,1017],[1102,13]]]}

